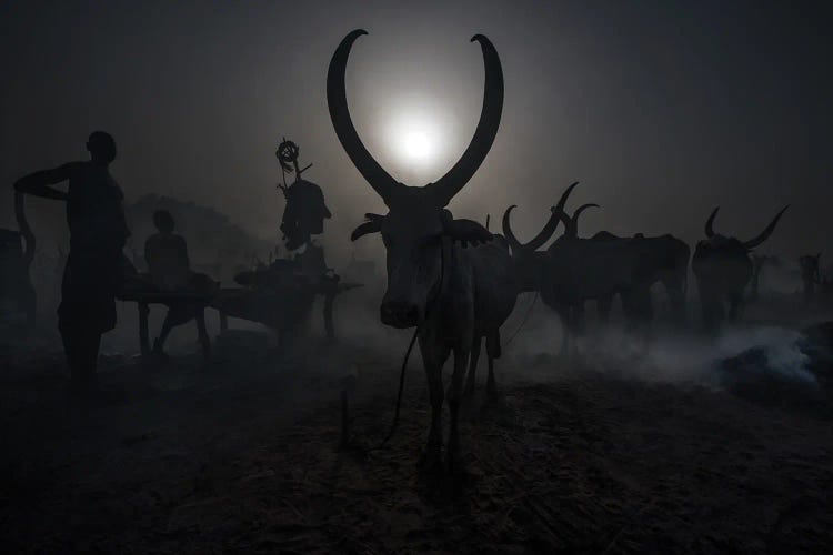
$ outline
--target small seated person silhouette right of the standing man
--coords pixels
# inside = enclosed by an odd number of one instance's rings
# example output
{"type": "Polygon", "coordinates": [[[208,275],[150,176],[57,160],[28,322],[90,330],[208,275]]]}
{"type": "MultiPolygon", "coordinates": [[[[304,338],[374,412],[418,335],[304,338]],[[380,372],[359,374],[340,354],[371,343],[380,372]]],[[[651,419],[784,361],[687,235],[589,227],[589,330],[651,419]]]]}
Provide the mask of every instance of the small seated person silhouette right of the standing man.
{"type": "Polygon", "coordinates": [[[164,342],[173,327],[197,320],[197,330],[203,354],[208,355],[211,342],[205,331],[204,309],[208,296],[217,284],[205,274],[191,271],[188,245],[182,235],[173,233],[175,222],[167,210],[153,214],[154,233],[144,243],[144,260],[150,281],[162,292],[178,293],[182,300],[169,301],[168,314],[159,337],[153,342],[153,353],[164,353],[164,342]]]}

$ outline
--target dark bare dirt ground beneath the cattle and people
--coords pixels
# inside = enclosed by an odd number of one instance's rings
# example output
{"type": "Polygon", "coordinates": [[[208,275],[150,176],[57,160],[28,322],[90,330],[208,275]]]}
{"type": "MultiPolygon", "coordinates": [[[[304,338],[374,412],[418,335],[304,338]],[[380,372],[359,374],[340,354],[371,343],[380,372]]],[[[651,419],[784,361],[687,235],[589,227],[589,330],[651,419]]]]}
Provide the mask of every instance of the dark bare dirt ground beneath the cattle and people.
{"type": "Polygon", "coordinates": [[[56,349],[4,356],[7,553],[833,548],[829,412],[552,361],[531,380],[509,361],[496,400],[466,402],[465,473],[452,477],[418,466],[429,420],[419,355],[384,448],[399,361],[369,347],[279,356],[220,343],[208,367],[111,356],[92,406],[68,397],[56,349]]]}

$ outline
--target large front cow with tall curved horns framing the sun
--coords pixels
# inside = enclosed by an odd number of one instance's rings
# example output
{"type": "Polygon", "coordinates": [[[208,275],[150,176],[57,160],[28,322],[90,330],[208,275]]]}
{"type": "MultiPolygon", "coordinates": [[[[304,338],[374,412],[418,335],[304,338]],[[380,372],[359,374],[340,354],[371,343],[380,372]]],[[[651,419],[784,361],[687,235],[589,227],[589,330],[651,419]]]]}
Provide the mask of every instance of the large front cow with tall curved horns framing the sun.
{"type": "Polygon", "coordinates": [[[432,410],[425,451],[429,467],[441,460],[442,367],[450,354],[454,355],[448,392],[451,423],[446,453],[449,467],[453,470],[460,450],[458,420],[470,352],[479,337],[485,336],[491,346],[490,361],[496,356],[496,331],[516,299],[506,249],[490,243],[492,234],[483,225],[456,220],[445,209],[472,178],[494,141],[503,108],[503,72],[489,39],[474,36],[472,41],[480,43],[485,65],[483,108],[474,137],[462,158],[439,181],[407,186],[371,157],[350,118],[344,73],[350,49],[362,34],[367,32],[352,31],[335,50],[327,77],[327,98],[344,151],[389,212],[368,214],[368,221],[353,231],[351,239],[382,234],[388,289],[380,309],[381,320],[393,327],[418,327],[432,410]]]}

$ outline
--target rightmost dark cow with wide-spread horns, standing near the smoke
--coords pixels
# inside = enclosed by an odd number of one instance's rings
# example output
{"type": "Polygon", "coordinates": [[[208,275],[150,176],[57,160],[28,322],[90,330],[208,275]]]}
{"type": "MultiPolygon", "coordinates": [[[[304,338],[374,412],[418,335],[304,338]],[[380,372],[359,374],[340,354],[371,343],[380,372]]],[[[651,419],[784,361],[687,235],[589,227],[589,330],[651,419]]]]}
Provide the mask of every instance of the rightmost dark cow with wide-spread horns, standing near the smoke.
{"type": "Polygon", "coordinates": [[[729,321],[737,320],[743,292],[752,278],[750,252],[772,235],[787,208],[790,206],[784,206],[757,236],[745,242],[715,233],[714,216],[717,215],[720,206],[712,211],[705,222],[706,239],[697,243],[691,261],[691,269],[700,290],[703,321],[707,329],[714,330],[723,322],[726,302],[729,321]]]}

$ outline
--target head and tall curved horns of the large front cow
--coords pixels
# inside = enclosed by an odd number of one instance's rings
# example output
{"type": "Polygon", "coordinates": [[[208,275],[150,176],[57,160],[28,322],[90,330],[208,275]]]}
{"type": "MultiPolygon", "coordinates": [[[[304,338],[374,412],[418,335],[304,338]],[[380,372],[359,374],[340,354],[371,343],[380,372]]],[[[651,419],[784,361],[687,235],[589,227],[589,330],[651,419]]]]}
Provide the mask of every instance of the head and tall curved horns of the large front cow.
{"type": "Polygon", "coordinates": [[[362,34],[367,32],[352,31],[335,49],[327,75],[327,101],[341,144],[389,210],[385,215],[368,214],[368,220],[353,231],[351,239],[368,233],[382,234],[388,258],[382,322],[411,327],[425,317],[429,299],[441,286],[441,264],[443,255],[448,262],[450,245],[460,242],[468,246],[492,239],[485,228],[471,220],[455,220],[445,206],[469,182],[492,147],[503,109],[503,71],[489,39],[474,36],[472,41],[480,43],[485,64],[483,108],[474,137],[460,161],[440,180],[425,186],[405,186],[371,157],[350,118],[344,72],[350,49],[362,34]]]}

